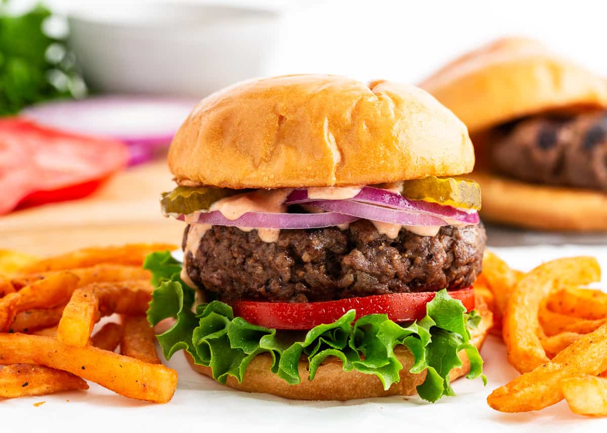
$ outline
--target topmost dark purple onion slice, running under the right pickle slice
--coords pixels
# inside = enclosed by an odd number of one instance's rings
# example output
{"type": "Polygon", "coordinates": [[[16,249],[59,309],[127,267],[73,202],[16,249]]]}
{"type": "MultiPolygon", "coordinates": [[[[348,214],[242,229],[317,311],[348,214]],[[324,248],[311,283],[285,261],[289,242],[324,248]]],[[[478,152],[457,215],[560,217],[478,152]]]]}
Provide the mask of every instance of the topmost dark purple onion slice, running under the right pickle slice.
{"type": "MultiPolygon", "coordinates": [[[[323,202],[325,200],[310,200],[308,198],[308,192],[305,189],[294,190],[287,198],[286,204],[297,204],[297,203],[308,203],[311,201],[323,202]]],[[[337,200],[333,200],[337,201],[337,200]]],[[[379,206],[392,207],[394,209],[405,209],[412,212],[424,212],[438,216],[439,218],[452,218],[453,220],[461,221],[467,224],[478,224],[480,218],[478,212],[465,212],[464,210],[456,209],[452,206],[443,206],[438,203],[430,203],[421,200],[410,200],[402,195],[388,191],[381,188],[375,188],[371,186],[365,186],[362,188],[356,196],[350,200],[339,200],[339,201],[357,201],[362,203],[377,204],[379,206]]],[[[315,205],[316,206],[316,205],[315,205]]],[[[320,207],[320,206],[317,206],[320,207]]],[[[324,208],[322,208],[324,209],[324,208]]],[[[367,218],[367,217],[361,217],[367,218]]],[[[381,221],[381,220],[378,220],[381,221]]],[[[415,224],[406,224],[415,225],[415,224]]],[[[439,225],[439,224],[431,224],[439,225]]],[[[444,224],[443,224],[444,225],[444,224]]]]}

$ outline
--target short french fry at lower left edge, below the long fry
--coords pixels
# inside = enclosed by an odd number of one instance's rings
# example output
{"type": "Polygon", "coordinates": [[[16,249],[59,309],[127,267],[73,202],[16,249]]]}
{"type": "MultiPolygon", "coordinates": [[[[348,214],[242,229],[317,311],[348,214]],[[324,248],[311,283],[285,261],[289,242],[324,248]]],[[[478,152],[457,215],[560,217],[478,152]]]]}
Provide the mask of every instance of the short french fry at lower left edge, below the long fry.
{"type": "Polygon", "coordinates": [[[0,397],[45,395],[89,389],[80,377],[41,365],[13,364],[0,369],[0,397]]]}

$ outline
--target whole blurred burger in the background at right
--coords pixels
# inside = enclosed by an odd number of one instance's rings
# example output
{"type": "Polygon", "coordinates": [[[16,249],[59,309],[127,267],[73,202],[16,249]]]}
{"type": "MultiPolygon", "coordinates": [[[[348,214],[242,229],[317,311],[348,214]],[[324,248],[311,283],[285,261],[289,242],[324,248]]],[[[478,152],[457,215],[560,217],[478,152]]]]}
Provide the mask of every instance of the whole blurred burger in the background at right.
{"type": "Polygon", "coordinates": [[[421,83],[468,127],[484,220],[607,230],[607,86],[536,41],[507,38],[421,83]]]}

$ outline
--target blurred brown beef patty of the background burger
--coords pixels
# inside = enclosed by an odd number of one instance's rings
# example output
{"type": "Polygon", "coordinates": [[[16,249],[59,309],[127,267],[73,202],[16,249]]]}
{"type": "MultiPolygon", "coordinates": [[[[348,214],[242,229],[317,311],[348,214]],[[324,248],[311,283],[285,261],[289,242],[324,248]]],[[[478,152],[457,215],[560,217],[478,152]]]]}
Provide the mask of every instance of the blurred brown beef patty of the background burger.
{"type": "Polygon", "coordinates": [[[493,169],[518,180],[607,191],[607,112],[535,117],[497,130],[493,169]]]}

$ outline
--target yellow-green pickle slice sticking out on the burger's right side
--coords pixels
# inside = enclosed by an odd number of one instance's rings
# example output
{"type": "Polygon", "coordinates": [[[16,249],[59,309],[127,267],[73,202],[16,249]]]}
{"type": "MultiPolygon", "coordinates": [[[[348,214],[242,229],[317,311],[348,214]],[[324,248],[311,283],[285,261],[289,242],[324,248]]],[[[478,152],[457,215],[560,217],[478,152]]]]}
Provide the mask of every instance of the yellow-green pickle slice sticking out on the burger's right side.
{"type": "Polygon", "coordinates": [[[481,209],[481,188],[475,181],[426,176],[403,181],[401,194],[411,200],[430,201],[443,206],[481,209]]]}

